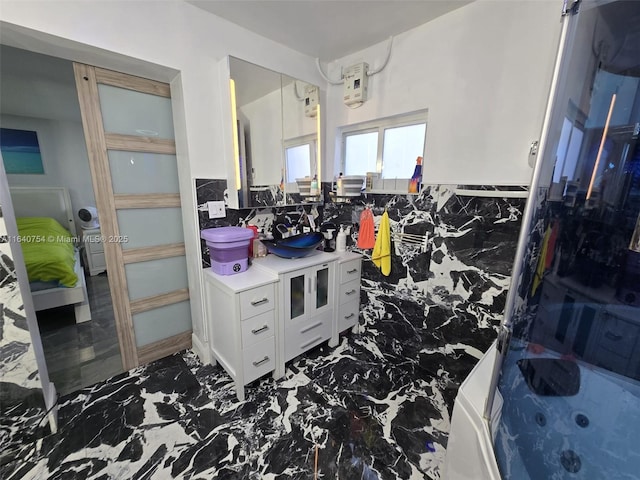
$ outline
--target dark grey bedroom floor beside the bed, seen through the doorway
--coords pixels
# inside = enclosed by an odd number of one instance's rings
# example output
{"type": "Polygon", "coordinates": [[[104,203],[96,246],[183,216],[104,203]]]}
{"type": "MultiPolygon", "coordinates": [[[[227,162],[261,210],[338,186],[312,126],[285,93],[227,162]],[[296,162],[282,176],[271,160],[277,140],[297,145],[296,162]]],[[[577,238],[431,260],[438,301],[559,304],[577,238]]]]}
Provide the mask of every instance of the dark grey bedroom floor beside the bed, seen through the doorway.
{"type": "Polygon", "coordinates": [[[107,274],[86,280],[91,321],[76,324],[73,307],[37,314],[49,378],[60,395],[123,371],[107,274]]]}

